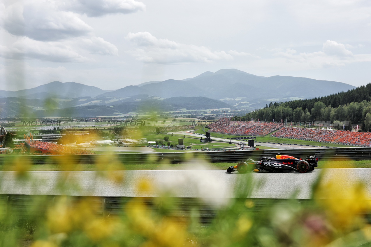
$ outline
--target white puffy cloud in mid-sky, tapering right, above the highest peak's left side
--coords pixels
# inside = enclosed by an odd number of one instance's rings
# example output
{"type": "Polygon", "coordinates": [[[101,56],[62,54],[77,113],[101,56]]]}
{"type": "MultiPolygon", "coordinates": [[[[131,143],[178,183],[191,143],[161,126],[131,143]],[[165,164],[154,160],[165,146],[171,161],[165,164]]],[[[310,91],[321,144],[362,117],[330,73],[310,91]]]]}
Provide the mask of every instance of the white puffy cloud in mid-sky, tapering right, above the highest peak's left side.
{"type": "Polygon", "coordinates": [[[232,55],[225,51],[211,51],[204,46],[159,39],[148,32],[129,33],[126,38],[136,47],[129,53],[142,62],[171,64],[233,59],[232,55]]]}

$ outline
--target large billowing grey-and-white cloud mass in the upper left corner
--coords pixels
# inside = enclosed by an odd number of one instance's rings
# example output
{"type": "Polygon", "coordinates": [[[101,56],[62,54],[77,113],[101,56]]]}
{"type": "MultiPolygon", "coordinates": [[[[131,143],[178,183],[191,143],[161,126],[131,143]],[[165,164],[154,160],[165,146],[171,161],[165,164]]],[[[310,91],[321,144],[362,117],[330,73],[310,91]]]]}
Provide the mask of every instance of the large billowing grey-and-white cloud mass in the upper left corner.
{"type": "MultiPolygon", "coordinates": [[[[101,37],[95,37],[93,28],[86,24],[79,14],[63,9],[77,0],[14,1],[5,6],[0,4],[1,27],[12,34],[15,41],[7,46],[0,44],[0,56],[12,59],[31,58],[52,62],[95,61],[92,55],[118,55],[114,44],[101,37]]],[[[79,0],[88,6],[88,1],[79,0]]],[[[102,8],[115,6],[124,8],[130,1],[91,1],[102,8]],[[120,5],[121,4],[121,5],[120,5]]],[[[76,3],[75,3],[76,5],[76,3]]],[[[96,7],[98,8],[98,7],[96,7]]],[[[129,7],[128,7],[129,8],[129,7]]],[[[3,33],[8,35],[7,33],[3,33]]]]}

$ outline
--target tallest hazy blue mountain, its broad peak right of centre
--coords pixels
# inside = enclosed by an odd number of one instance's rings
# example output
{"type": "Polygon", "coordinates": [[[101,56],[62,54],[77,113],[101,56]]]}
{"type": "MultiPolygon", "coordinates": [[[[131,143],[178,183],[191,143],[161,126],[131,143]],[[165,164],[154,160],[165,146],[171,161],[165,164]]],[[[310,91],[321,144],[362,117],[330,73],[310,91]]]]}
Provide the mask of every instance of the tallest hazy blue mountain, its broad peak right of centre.
{"type": "Polygon", "coordinates": [[[261,77],[236,69],[207,71],[194,78],[166,80],[143,85],[150,95],[170,97],[208,97],[213,99],[255,98],[314,98],[355,88],[334,81],[318,81],[303,77],[261,77]]]}

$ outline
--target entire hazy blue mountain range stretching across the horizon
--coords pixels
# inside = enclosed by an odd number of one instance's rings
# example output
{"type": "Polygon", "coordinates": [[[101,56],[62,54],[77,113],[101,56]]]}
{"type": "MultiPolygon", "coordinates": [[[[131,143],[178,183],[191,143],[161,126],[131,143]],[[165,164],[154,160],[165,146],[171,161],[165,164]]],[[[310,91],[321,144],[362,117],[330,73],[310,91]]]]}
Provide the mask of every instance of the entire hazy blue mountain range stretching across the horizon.
{"type": "Polygon", "coordinates": [[[144,82],[111,91],[53,81],[19,91],[0,90],[0,117],[17,115],[20,113],[17,109],[39,115],[65,115],[69,111],[81,116],[93,114],[95,108],[95,115],[154,109],[256,109],[269,102],[315,98],[353,88],[342,82],[278,75],[262,77],[236,69],[207,71],[183,80],[144,82]],[[45,102],[50,104],[45,106],[45,102]]]}

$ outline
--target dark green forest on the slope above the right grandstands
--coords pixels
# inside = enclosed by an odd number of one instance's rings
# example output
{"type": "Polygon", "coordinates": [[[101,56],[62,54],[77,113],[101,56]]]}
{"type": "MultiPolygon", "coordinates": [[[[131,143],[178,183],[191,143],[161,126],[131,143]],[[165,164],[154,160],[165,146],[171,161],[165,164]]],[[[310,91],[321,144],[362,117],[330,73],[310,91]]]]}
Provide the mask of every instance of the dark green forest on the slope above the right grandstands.
{"type": "Polygon", "coordinates": [[[265,108],[249,112],[245,117],[235,116],[235,121],[331,121],[342,126],[342,121],[359,124],[364,131],[371,130],[371,84],[347,92],[324,97],[287,102],[270,102],[265,108]]]}

